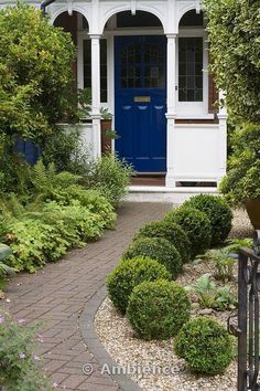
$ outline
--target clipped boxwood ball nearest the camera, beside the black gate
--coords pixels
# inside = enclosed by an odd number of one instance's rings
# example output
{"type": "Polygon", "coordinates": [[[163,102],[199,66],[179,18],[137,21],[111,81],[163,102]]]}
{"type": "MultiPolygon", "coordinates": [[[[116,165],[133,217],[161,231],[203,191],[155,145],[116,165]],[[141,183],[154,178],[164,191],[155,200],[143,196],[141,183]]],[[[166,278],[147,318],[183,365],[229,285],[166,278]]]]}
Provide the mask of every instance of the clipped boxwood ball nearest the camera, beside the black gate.
{"type": "Polygon", "coordinates": [[[175,352],[191,370],[221,373],[232,360],[232,339],[216,320],[197,318],[183,326],[174,344],[175,352]]]}

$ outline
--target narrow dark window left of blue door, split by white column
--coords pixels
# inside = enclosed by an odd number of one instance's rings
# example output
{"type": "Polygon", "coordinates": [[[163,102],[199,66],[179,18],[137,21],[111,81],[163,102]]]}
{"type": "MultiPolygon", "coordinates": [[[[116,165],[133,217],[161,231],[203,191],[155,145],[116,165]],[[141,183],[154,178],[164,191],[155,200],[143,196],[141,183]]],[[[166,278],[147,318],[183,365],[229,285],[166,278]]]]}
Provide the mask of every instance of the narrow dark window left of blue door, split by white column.
{"type": "MultiPolygon", "coordinates": [[[[91,41],[84,40],[84,88],[91,88],[91,41]]],[[[100,40],[100,101],[107,102],[107,40],[100,40]]]]}

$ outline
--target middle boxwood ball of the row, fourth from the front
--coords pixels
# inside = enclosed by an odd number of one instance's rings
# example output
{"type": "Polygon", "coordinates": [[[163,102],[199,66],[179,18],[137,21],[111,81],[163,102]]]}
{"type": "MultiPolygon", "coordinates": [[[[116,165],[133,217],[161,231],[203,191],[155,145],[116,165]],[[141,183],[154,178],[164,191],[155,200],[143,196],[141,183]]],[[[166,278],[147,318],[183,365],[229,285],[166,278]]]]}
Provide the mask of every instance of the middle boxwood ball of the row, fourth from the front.
{"type": "Polygon", "coordinates": [[[129,260],[136,256],[147,256],[156,260],[176,278],[182,271],[182,258],[177,250],[166,239],[140,237],[136,240],[123,253],[122,258],[129,260]]]}

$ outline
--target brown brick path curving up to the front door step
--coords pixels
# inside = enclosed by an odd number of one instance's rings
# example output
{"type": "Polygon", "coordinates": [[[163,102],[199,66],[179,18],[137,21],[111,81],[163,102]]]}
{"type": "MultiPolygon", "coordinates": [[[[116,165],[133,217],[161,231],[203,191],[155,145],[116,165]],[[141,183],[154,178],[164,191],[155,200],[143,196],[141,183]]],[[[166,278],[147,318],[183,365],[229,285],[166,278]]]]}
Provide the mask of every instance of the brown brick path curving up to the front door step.
{"type": "MultiPolygon", "coordinates": [[[[85,249],[75,250],[64,260],[48,264],[35,275],[19,275],[8,286],[9,309],[26,324],[43,324],[43,344],[39,353],[44,368],[58,389],[116,391],[108,374],[101,374],[95,358],[84,345],[78,317],[89,298],[104,285],[105,277],[118,263],[136,230],[160,219],[170,205],[162,203],[124,203],[117,229],[85,249]],[[91,362],[91,376],[83,364],[91,362]]],[[[36,390],[35,390],[36,391],[36,390]]]]}

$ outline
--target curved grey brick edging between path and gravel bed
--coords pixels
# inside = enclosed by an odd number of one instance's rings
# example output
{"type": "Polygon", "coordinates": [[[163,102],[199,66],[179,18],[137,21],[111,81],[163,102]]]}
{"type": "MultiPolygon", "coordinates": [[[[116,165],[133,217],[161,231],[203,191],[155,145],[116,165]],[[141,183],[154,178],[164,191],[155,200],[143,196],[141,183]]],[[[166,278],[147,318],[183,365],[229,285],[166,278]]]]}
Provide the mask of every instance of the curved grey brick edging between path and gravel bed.
{"type": "MultiPolygon", "coordinates": [[[[102,367],[108,366],[109,369],[117,368],[118,363],[107,352],[100,342],[95,328],[95,316],[104,299],[107,297],[107,288],[102,285],[96,294],[89,299],[82,316],[78,320],[79,330],[85,340],[88,350],[95,356],[98,363],[102,367]]],[[[120,387],[122,391],[141,391],[142,389],[128,376],[115,373],[110,374],[113,381],[120,387]]]]}

